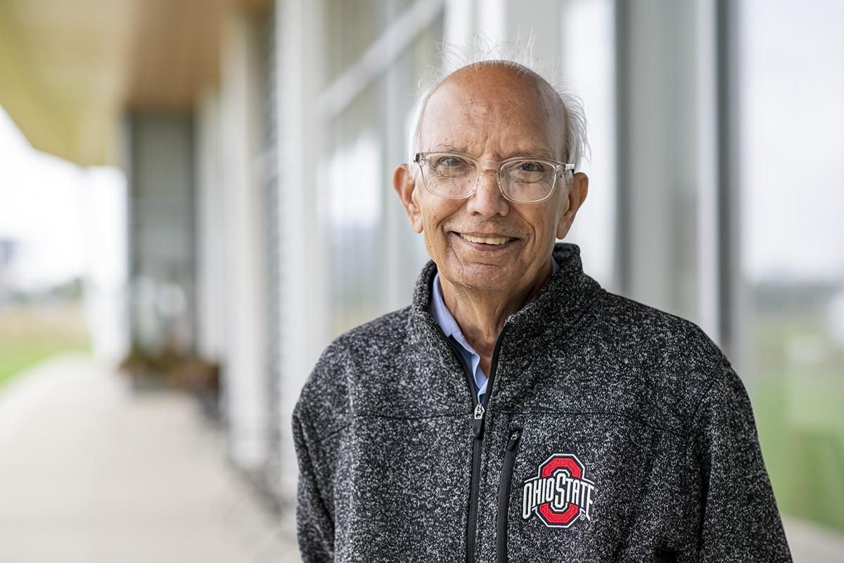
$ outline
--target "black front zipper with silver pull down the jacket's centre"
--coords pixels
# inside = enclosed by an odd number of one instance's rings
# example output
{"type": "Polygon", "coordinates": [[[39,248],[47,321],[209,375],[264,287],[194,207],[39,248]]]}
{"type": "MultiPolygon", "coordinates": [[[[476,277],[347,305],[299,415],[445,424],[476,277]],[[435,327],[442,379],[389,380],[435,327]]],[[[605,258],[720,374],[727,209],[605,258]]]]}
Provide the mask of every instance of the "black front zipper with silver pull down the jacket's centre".
{"type": "Polygon", "coordinates": [[[466,374],[466,381],[468,382],[469,392],[472,393],[472,481],[469,488],[469,517],[466,523],[466,563],[474,563],[475,554],[475,531],[478,527],[478,502],[480,489],[480,447],[484,441],[484,419],[486,417],[486,405],[490,403],[490,395],[492,394],[492,381],[495,377],[495,369],[498,367],[498,353],[501,348],[501,341],[504,338],[507,327],[501,329],[498,339],[495,340],[495,349],[492,351],[492,365],[490,365],[490,376],[486,382],[486,394],[484,395],[484,403],[478,402],[478,395],[474,392],[474,376],[469,370],[466,362],[463,361],[463,356],[457,349],[457,344],[454,344],[449,338],[446,342],[451,346],[454,355],[457,356],[457,361],[463,366],[463,372],[466,374]]]}

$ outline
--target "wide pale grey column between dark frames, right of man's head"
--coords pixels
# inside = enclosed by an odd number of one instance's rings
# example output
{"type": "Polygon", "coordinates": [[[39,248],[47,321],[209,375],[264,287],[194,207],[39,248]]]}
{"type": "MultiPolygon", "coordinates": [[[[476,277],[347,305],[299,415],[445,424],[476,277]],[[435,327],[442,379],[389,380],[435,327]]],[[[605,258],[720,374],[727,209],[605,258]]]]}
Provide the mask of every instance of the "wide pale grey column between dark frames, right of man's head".
{"type": "MultiPolygon", "coordinates": [[[[711,53],[698,2],[619,2],[619,252],[622,290],[701,322],[701,235],[711,230],[711,53]],[[704,208],[701,209],[701,204],[704,208]],[[704,221],[699,225],[699,221],[704,221]]],[[[707,268],[707,272],[701,271],[707,268]]],[[[711,316],[706,317],[711,326],[711,316]]]]}

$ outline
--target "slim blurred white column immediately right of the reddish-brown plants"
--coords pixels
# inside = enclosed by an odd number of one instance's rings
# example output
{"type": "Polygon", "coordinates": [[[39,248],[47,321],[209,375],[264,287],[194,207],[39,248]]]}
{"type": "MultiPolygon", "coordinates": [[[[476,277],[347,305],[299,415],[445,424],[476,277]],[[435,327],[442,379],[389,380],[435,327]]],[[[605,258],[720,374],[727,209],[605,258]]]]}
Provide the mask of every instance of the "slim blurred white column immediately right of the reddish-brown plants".
{"type": "Polygon", "coordinates": [[[268,455],[267,365],[257,33],[245,14],[225,18],[221,48],[222,201],[225,214],[226,353],[223,403],[230,455],[258,469],[268,455]]]}

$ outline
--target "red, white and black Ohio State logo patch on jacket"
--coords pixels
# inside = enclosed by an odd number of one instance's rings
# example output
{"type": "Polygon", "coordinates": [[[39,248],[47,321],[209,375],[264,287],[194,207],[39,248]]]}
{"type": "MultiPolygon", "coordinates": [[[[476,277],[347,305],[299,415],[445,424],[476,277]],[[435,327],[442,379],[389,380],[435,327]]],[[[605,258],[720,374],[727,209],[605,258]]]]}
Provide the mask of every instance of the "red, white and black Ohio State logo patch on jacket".
{"type": "Polygon", "coordinates": [[[592,519],[595,484],[572,453],[554,453],[522,486],[522,518],[534,514],[550,528],[568,528],[581,517],[592,519]]]}

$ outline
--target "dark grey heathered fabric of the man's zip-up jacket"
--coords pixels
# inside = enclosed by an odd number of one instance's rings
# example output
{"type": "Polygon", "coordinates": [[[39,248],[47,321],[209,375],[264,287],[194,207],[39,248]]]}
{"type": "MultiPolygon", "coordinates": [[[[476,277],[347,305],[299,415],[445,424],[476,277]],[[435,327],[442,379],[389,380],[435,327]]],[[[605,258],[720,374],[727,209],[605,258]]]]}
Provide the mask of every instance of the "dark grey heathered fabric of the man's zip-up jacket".
{"type": "MultiPolygon", "coordinates": [[[[603,290],[576,245],[554,257],[560,269],[500,336],[474,560],[790,561],[749,398],[721,350],[694,323],[603,290]],[[560,456],[594,484],[590,518],[567,528],[538,509],[522,517],[524,484],[560,456]]],[[[429,312],[435,273],[428,263],[410,306],[334,340],[301,391],[306,563],[466,560],[473,397],[429,312]]]]}

